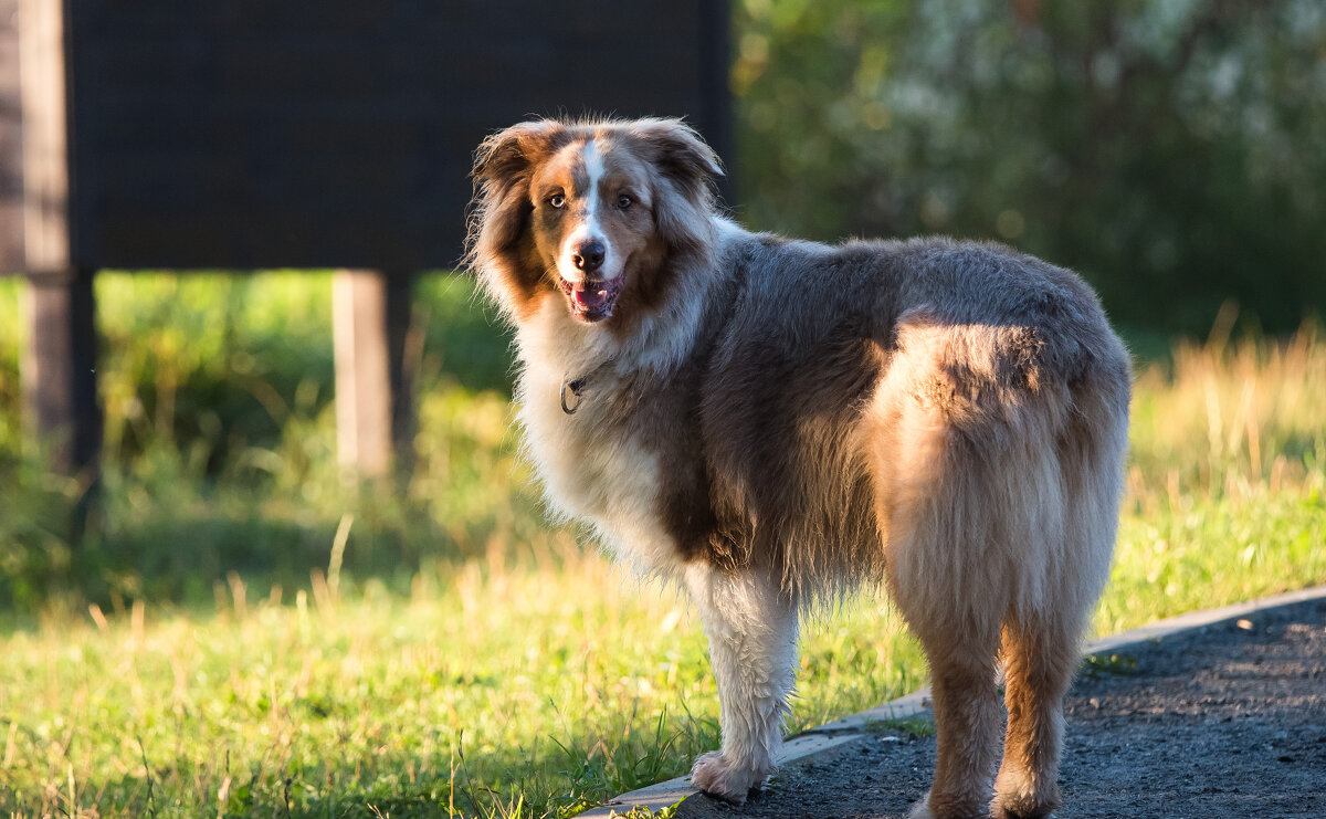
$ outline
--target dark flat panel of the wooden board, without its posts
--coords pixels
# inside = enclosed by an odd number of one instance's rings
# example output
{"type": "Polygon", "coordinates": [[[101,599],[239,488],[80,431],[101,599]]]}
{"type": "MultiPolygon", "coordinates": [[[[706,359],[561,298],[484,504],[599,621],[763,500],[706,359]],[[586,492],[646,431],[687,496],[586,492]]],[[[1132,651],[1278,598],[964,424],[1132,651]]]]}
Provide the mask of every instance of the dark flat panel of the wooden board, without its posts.
{"type": "Polygon", "coordinates": [[[729,147],[725,3],[68,8],[77,266],[452,266],[475,146],[530,114],[686,115],[729,147]]]}

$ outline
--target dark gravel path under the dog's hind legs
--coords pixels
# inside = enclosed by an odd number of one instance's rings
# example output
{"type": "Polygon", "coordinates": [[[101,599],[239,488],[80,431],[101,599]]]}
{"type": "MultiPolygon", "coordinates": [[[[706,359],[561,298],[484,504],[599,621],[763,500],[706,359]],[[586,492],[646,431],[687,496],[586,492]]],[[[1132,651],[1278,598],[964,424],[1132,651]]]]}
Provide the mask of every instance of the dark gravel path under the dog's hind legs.
{"type": "MultiPolygon", "coordinates": [[[[1078,677],[1059,783],[1066,819],[1326,818],[1326,600],[1122,649],[1078,677]]],[[[784,767],[732,807],[679,819],[902,819],[935,739],[871,736],[784,767]]]]}

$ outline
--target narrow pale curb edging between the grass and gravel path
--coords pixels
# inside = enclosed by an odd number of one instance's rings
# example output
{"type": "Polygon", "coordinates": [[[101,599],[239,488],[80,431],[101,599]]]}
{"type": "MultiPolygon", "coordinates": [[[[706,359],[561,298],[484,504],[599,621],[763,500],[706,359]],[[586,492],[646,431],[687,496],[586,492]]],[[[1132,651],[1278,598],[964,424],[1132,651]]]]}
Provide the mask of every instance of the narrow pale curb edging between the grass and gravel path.
{"type": "MultiPolygon", "coordinates": [[[[1326,586],[1290,591],[1250,603],[1236,603],[1205,611],[1189,611],[1188,614],[1158,620],[1140,628],[1093,640],[1083,651],[1083,656],[1116,653],[1130,645],[1162,640],[1180,632],[1207,628],[1216,623],[1280,608],[1281,606],[1319,599],[1326,599],[1326,586]]],[[[777,757],[778,765],[804,759],[830,747],[861,739],[866,736],[870,722],[902,720],[928,709],[930,688],[923,688],[906,697],[899,697],[898,700],[863,710],[859,714],[851,714],[850,717],[804,730],[784,742],[782,751],[777,757]]],[[[699,791],[691,787],[690,777],[678,777],[676,779],[668,779],[667,782],[659,782],[658,785],[614,796],[599,807],[579,814],[578,819],[610,819],[611,816],[627,814],[633,808],[646,808],[650,812],[658,812],[696,792],[699,791]]]]}

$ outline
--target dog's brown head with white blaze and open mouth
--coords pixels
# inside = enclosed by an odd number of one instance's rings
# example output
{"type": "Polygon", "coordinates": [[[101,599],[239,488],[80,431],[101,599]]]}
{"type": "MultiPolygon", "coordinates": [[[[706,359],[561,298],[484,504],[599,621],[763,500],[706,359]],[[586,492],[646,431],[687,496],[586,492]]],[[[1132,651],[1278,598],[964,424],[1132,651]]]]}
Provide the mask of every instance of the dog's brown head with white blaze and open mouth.
{"type": "Polygon", "coordinates": [[[656,306],[712,244],[713,151],[676,119],[524,122],[479,146],[468,261],[516,319],[656,306]]]}

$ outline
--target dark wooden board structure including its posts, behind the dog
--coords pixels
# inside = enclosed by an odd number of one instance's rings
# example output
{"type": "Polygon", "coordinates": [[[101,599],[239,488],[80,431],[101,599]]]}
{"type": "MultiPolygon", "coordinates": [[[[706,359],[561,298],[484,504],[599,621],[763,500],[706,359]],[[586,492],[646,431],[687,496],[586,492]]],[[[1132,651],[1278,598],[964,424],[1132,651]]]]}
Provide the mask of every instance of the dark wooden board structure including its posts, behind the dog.
{"type": "MultiPolygon", "coordinates": [[[[98,268],[346,270],[339,444],[381,473],[389,428],[410,437],[410,281],[455,266],[485,134],[541,114],[686,115],[729,152],[723,1],[0,0],[5,12],[24,207],[21,243],[0,209],[0,254],[32,276],[28,407],[66,465],[95,461],[98,268]]],[[[0,123],[0,179],[15,172],[5,139],[0,123]]]]}

